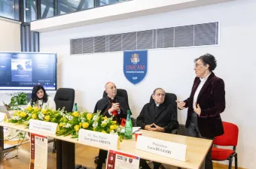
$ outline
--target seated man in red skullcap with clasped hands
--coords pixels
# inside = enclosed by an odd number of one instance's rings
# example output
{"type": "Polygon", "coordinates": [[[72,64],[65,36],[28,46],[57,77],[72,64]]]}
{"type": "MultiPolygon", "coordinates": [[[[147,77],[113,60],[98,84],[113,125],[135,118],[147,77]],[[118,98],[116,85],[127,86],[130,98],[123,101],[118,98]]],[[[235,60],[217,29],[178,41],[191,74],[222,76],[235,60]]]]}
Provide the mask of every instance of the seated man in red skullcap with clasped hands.
{"type": "MultiPolygon", "coordinates": [[[[94,108],[94,113],[96,113],[97,110],[100,110],[102,116],[114,116],[113,120],[116,120],[117,124],[121,125],[123,121],[122,119],[126,118],[127,110],[129,110],[128,104],[125,98],[117,96],[117,87],[114,83],[106,83],[105,92],[108,95],[105,98],[97,101],[94,108]]],[[[107,158],[107,155],[107,151],[99,149],[99,162],[96,169],[102,169],[102,164],[105,162],[105,158],[107,158]]]]}

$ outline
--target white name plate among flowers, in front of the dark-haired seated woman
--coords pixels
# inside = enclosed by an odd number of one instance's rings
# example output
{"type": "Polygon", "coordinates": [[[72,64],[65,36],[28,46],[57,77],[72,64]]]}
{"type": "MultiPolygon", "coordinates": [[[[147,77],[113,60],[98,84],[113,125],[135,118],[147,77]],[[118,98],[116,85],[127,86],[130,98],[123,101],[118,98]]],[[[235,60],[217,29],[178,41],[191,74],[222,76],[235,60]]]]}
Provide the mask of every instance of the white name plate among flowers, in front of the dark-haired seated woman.
{"type": "Polygon", "coordinates": [[[49,134],[56,134],[58,124],[55,122],[44,122],[37,119],[29,120],[29,130],[42,131],[49,134]]]}

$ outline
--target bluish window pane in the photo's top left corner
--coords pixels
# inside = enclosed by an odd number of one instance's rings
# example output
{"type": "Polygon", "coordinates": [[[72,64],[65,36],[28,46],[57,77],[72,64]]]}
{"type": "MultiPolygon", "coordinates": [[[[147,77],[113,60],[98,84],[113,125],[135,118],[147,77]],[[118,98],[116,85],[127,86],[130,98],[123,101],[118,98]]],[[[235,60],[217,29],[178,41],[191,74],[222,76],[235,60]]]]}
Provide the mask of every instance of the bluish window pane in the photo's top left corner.
{"type": "Polygon", "coordinates": [[[0,16],[15,20],[14,0],[0,0],[0,16]]]}

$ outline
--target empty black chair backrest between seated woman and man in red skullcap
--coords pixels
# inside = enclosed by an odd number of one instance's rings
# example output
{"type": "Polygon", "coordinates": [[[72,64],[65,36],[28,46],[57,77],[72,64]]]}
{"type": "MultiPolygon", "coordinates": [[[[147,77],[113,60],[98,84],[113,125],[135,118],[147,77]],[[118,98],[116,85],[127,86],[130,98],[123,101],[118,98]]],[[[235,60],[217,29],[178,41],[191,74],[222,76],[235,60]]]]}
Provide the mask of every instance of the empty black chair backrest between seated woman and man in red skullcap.
{"type": "Polygon", "coordinates": [[[56,110],[65,107],[65,110],[72,112],[75,101],[75,90],[70,88],[59,88],[54,97],[56,110]]]}

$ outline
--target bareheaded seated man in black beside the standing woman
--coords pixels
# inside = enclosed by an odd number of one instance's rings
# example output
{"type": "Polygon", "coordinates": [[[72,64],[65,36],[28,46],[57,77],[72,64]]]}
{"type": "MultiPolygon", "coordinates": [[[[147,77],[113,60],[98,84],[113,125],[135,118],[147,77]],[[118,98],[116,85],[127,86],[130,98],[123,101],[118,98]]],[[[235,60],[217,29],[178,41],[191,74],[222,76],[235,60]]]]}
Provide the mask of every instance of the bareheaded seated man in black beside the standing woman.
{"type": "MultiPolygon", "coordinates": [[[[142,129],[148,131],[158,131],[172,133],[172,130],[178,128],[177,113],[172,104],[164,102],[166,92],[157,88],[152,94],[154,102],[145,104],[141,113],[137,117],[136,123],[142,129]]],[[[153,162],[154,169],[160,167],[160,163],[153,162]]],[[[149,169],[147,162],[141,159],[140,166],[149,169]]]]}

